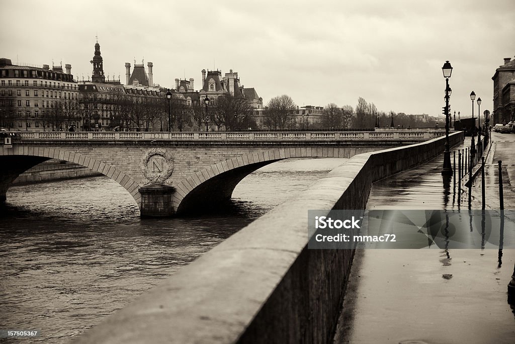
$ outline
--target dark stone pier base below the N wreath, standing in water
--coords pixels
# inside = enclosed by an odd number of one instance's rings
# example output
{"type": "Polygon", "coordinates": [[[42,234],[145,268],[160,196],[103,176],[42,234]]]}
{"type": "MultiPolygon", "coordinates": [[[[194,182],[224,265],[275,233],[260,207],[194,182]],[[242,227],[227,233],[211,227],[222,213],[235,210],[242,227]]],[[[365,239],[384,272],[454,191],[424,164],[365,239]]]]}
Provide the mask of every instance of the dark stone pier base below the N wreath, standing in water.
{"type": "Polygon", "coordinates": [[[163,184],[150,184],[140,187],[141,217],[167,217],[174,215],[172,196],[175,187],[163,184]]]}

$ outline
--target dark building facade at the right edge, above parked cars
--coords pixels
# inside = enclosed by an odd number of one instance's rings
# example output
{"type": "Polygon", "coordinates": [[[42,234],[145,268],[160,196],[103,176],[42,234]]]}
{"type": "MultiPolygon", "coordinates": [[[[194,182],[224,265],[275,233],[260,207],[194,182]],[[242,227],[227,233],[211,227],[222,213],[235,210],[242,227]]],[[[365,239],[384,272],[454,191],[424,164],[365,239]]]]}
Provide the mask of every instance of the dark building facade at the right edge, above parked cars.
{"type": "Polygon", "coordinates": [[[490,123],[493,125],[515,121],[515,60],[505,58],[504,64],[495,70],[492,80],[493,113],[490,123]]]}

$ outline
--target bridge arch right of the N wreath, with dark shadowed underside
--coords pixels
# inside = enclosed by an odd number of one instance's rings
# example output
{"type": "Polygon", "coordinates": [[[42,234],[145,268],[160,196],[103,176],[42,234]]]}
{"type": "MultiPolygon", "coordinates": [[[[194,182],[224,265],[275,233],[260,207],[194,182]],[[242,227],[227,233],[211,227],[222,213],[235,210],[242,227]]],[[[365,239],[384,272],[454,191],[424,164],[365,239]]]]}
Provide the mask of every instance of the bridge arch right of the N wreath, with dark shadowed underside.
{"type": "Polygon", "coordinates": [[[350,158],[373,149],[359,148],[282,148],[252,152],[207,166],[176,185],[173,197],[177,215],[202,207],[215,208],[231,198],[236,185],[256,169],[289,158],[350,158]]]}

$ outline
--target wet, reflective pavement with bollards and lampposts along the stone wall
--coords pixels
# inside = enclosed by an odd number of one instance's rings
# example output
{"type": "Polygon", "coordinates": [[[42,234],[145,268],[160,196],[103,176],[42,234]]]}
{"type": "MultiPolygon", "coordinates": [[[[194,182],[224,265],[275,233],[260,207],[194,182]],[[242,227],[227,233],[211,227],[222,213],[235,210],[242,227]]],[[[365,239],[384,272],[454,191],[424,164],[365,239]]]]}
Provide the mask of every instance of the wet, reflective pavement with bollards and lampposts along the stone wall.
{"type": "MultiPolygon", "coordinates": [[[[470,147],[467,139],[452,150],[470,147]]],[[[493,133],[485,165],[486,209],[499,209],[498,160],[504,208],[515,209],[514,148],[515,134],[493,133]]],[[[467,187],[444,185],[442,164],[439,157],[374,183],[367,209],[467,211],[467,187]]],[[[471,209],[481,209],[480,177],[471,188],[471,209]]],[[[498,249],[357,250],[334,341],[514,343],[515,309],[507,303],[514,264],[515,249],[506,248],[501,254],[498,249]]]]}

